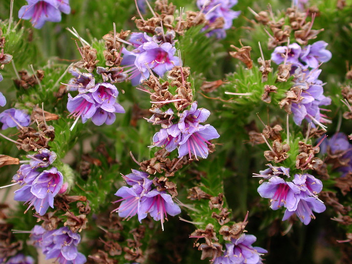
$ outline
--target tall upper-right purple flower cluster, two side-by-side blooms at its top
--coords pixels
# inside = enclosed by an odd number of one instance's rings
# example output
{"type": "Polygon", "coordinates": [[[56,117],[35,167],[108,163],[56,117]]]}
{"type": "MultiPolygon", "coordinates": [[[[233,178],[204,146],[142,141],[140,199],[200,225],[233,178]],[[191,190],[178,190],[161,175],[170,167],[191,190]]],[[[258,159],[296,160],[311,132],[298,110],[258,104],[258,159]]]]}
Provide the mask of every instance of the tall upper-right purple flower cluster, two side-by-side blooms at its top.
{"type": "Polygon", "coordinates": [[[304,48],[297,43],[276,47],[271,59],[276,64],[289,64],[294,76],[294,85],[286,93],[287,97],[280,103],[288,113],[293,113],[293,120],[301,125],[306,119],[312,126],[326,128],[323,123],[329,123],[325,114],[321,113],[321,106],[331,104],[331,99],[324,93],[323,83],[318,79],[321,63],[331,58],[331,52],[326,49],[328,44],[318,41],[304,48]]]}

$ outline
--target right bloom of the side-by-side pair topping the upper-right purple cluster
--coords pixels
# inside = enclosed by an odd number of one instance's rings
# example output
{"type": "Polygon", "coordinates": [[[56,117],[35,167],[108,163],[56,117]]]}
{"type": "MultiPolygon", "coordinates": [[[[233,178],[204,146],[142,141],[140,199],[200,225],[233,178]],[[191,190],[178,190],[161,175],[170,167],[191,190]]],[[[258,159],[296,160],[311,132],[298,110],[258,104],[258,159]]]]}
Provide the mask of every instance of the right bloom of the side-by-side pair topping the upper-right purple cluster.
{"type": "Polygon", "coordinates": [[[327,45],[325,41],[317,41],[306,46],[300,55],[301,61],[310,68],[316,68],[320,63],[329,61],[331,52],[326,49],[327,45]]]}

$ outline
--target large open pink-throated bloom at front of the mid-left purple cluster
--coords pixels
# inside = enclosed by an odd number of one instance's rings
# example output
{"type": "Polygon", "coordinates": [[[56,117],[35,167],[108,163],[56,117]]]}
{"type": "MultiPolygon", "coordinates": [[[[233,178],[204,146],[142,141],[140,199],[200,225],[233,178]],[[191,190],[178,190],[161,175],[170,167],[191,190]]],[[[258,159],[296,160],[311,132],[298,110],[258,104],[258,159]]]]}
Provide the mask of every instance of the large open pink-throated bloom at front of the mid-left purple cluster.
{"type": "Polygon", "coordinates": [[[29,202],[28,209],[34,206],[37,213],[43,216],[49,206],[54,208],[54,197],[59,193],[63,179],[63,175],[55,167],[44,170],[30,184],[15,191],[14,199],[29,202]]]}

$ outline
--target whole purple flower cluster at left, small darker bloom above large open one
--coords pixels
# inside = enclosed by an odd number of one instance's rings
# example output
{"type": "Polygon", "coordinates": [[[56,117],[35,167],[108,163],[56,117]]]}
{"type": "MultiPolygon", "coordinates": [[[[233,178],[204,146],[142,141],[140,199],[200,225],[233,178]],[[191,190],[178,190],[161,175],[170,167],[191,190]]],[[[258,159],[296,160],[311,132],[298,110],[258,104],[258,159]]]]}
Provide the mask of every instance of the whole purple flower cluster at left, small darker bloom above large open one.
{"type": "MultiPolygon", "coordinates": [[[[63,175],[52,167],[48,170],[40,171],[41,168],[47,168],[56,159],[56,154],[47,149],[40,149],[38,154],[27,155],[30,158],[29,164],[23,164],[13,176],[13,181],[24,185],[21,189],[15,191],[15,200],[29,203],[27,210],[34,206],[36,212],[43,216],[46,210],[54,208],[54,197],[66,191],[63,175]]],[[[26,210],[26,211],[27,211],[26,210]]]]}

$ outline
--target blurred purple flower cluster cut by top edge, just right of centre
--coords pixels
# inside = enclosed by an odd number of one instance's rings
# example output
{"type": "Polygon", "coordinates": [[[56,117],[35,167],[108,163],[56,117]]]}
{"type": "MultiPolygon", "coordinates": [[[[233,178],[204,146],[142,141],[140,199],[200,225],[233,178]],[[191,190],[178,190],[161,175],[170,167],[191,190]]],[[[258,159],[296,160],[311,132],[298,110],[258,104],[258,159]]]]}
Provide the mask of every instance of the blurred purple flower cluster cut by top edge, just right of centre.
{"type": "Polygon", "coordinates": [[[226,37],[227,29],[232,26],[232,21],[241,14],[241,11],[233,11],[231,8],[237,4],[237,0],[197,0],[197,6],[203,10],[209,24],[204,30],[209,29],[209,36],[216,36],[218,39],[226,37]]]}

